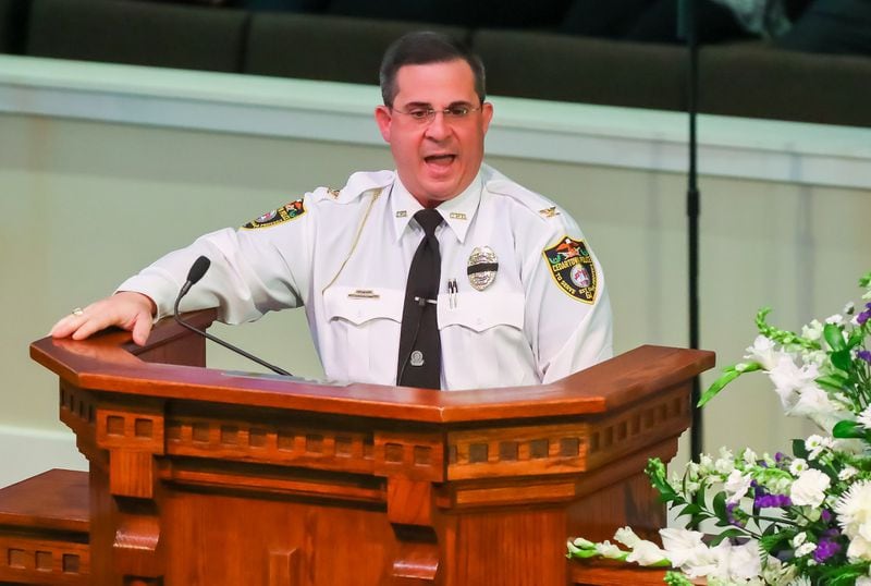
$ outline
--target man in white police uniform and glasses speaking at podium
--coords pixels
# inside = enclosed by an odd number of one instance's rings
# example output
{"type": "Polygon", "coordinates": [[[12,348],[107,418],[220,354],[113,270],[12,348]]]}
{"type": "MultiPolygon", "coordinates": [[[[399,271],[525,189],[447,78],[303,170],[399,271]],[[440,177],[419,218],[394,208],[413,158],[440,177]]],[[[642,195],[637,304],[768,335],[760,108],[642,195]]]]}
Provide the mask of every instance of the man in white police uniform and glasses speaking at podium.
{"type": "Polygon", "coordinates": [[[388,49],[381,91],[375,118],[395,172],[355,173],[201,236],[51,334],[120,326],[145,343],[205,255],[211,268],[181,309],[217,306],[235,323],[303,305],[331,379],[535,384],[610,357],[608,291],[577,224],[482,164],[493,107],[480,60],[413,33],[388,49]]]}

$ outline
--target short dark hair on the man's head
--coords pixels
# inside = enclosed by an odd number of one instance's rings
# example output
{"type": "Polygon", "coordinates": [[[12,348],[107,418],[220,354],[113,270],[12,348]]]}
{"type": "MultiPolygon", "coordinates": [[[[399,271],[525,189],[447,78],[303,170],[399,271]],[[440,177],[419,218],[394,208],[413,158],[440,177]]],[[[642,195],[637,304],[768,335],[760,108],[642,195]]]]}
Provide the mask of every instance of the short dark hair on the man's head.
{"type": "Polygon", "coordinates": [[[487,96],[484,87],[484,71],[481,58],[459,40],[431,30],[420,30],[407,33],[394,40],[384,58],[381,60],[381,71],[379,80],[381,82],[381,98],[384,106],[393,107],[393,98],[396,97],[396,72],[403,65],[426,65],[428,63],[446,63],[462,59],[471,68],[475,74],[475,93],[483,103],[487,96]]]}

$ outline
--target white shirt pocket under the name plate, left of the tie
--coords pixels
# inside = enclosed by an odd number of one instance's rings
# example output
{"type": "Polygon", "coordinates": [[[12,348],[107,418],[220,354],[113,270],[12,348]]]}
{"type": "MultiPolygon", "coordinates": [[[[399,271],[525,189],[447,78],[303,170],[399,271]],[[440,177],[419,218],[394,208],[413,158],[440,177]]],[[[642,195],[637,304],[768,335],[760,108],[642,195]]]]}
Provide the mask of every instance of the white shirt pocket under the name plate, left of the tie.
{"type": "MultiPolygon", "coordinates": [[[[396,379],[404,291],[332,286],[323,294],[332,378],[390,384],[396,379]]],[[[326,368],[326,366],[324,366],[326,368]]]]}

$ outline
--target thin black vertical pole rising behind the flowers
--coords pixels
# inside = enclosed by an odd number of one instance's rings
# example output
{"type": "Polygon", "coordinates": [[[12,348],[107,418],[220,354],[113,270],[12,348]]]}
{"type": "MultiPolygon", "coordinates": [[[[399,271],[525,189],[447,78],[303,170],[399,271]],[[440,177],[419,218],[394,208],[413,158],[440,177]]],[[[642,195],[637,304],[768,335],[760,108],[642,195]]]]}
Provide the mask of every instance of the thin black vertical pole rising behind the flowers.
{"type": "MultiPolygon", "coordinates": [[[[700,194],[698,185],[698,143],[696,119],[698,117],[699,95],[699,38],[696,17],[697,0],[682,0],[678,4],[678,35],[686,38],[689,71],[687,75],[687,114],[689,118],[689,172],[687,174],[687,222],[688,222],[688,273],[689,273],[689,347],[699,349],[699,216],[700,194]]],[[[690,459],[698,461],[703,450],[704,422],[701,408],[701,380],[692,379],[690,402],[692,425],[689,430],[690,459]]]]}

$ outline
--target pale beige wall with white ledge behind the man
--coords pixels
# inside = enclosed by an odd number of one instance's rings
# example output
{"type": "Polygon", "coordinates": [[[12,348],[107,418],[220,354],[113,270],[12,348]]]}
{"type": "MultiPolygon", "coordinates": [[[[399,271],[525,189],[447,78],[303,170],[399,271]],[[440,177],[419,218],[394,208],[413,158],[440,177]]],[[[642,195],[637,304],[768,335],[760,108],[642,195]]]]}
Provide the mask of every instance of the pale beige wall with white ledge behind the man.
{"type": "MultiPolygon", "coordinates": [[[[76,68],[0,59],[0,486],[84,466],[57,423],[54,377],[27,357],[54,320],[203,232],[391,166],[368,121],[375,88],[97,64],[79,78],[76,68]],[[106,73],[100,87],[95,71],[106,73]]],[[[605,267],[617,351],[686,345],[683,118],[494,100],[488,160],[579,220],[605,267]]],[[[760,306],[795,329],[858,297],[856,279],[871,268],[871,154],[856,145],[871,141],[714,117],[701,129],[701,345],[725,365],[752,341],[760,306]]],[[[214,331],[320,374],[300,312],[214,331]]],[[[213,366],[256,369],[209,352],[213,366]]],[[[803,432],[761,378],[717,398],[706,420],[709,450],[785,449],[803,432]]]]}

